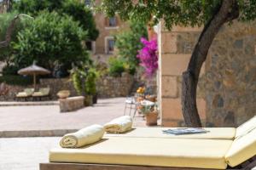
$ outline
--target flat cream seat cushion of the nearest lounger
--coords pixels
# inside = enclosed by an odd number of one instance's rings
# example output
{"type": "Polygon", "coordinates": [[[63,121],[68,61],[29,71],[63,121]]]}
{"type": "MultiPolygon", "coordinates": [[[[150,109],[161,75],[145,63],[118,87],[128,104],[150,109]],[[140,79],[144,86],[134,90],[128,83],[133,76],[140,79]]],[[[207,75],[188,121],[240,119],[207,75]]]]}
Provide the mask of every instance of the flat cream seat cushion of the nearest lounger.
{"type": "Polygon", "coordinates": [[[225,169],[231,140],[108,138],[80,149],[50,150],[49,161],[225,169]]]}

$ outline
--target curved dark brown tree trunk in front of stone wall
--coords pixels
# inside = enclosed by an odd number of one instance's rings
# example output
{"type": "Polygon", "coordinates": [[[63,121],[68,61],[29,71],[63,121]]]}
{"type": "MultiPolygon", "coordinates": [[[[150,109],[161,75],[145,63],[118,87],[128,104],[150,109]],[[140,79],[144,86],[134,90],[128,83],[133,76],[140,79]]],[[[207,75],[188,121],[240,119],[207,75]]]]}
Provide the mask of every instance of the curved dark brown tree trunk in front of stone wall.
{"type": "Polygon", "coordinates": [[[213,14],[212,19],[204,26],[201,36],[195,45],[187,71],[183,72],[182,109],[187,127],[201,127],[201,120],[196,106],[196,87],[201,66],[207,59],[212,40],[224,23],[234,20],[238,16],[239,8],[236,0],[223,0],[221,6],[216,9],[216,14],[213,14]]]}

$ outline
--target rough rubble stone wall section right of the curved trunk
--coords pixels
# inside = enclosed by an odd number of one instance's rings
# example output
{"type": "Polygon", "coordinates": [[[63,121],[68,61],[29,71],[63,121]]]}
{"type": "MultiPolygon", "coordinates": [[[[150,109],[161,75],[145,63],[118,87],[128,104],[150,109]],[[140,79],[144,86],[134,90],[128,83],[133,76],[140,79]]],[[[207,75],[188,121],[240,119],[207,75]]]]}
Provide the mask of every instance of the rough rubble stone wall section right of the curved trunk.
{"type": "Polygon", "coordinates": [[[209,126],[236,127],[256,115],[256,21],[218,32],[203,81],[209,126]]]}

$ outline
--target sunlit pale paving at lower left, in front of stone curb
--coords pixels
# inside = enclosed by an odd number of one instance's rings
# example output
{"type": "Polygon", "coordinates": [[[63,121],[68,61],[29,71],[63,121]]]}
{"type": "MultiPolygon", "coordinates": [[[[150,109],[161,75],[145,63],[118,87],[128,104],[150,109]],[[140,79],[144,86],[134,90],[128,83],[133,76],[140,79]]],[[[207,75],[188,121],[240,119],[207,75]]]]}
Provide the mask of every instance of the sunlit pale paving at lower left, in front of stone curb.
{"type": "Polygon", "coordinates": [[[60,138],[0,139],[0,170],[39,170],[40,162],[48,162],[51,148],[60,138]]]}

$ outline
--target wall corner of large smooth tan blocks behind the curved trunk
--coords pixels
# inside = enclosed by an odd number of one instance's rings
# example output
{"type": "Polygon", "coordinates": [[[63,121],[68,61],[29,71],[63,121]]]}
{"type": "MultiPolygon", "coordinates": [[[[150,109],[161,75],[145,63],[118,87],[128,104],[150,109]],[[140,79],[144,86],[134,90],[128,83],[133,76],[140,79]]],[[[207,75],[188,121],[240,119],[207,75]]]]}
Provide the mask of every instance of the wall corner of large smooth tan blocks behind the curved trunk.
{"type": "MultiPolygon", "coordinates": [[[[161,25],[160,36],[160,115],[164,127],[183,126],[181,105],[182,73],[186,70],[195,38],[201,29],[174,27],[167,31],[161,25]],[[191,33],[192,32],[192,33],[191,33]]],[[[204,68],[202,69],[204,71],[204,68]]],[[[206,103],[198,98],[202,120],[206,119],[206,103]]]]}

